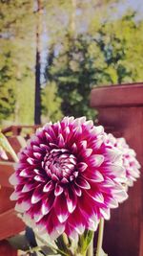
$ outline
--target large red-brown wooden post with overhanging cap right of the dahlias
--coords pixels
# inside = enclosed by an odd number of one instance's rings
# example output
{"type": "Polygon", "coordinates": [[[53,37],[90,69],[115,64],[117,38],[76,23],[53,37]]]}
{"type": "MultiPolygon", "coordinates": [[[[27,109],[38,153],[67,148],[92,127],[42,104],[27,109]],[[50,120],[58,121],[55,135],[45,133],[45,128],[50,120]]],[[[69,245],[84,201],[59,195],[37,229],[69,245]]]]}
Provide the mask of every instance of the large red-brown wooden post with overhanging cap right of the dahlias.
{"type": "MultiPolygon", "coordinates": [[[[125,137],[143,165],[143,83],[92,89],[97,123],[116,137],[125,137]]],[[[143,256],[143,176],[129,189],[129,198],[112,210],[106,222],[104,248],[110,256],[143,256]]]]}

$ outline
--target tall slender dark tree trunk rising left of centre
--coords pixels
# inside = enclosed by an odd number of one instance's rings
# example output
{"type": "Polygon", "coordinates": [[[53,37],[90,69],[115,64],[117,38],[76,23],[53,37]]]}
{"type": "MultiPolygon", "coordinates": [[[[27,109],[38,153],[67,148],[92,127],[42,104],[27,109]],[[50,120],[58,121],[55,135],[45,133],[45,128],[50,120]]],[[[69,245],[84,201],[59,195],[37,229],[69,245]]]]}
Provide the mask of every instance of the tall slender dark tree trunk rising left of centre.
{"type": "Polygon", "coordinates": [[[34,124],[41,124],[41,34],[42,0],[37,0],[34,124]]]}

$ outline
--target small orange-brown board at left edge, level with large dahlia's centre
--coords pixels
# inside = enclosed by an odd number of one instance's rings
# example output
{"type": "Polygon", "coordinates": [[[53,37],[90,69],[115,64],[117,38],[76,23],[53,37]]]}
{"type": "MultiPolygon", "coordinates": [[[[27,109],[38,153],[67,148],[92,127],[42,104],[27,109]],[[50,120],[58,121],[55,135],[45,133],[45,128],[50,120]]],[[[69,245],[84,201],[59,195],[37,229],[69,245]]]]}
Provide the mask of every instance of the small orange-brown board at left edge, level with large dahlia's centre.
{"type": "Polygon", "coordinates": [[[3,187],[12,187],[9,182],[10,175],[14,172],[14,163],[0,161],[0,185],[3,187]]]}

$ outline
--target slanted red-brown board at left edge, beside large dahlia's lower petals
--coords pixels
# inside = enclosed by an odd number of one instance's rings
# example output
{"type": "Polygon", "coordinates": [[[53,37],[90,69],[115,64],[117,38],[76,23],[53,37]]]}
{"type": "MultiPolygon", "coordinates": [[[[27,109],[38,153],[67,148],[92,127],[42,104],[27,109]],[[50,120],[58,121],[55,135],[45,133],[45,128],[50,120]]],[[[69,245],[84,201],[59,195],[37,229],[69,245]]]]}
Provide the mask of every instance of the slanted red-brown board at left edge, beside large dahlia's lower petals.
{"type": "Polygon", "coordinates": [[[25,229],[25,223],[17,217],[14,209],[0,214],[0,241],[14,236],[25,229]]]}

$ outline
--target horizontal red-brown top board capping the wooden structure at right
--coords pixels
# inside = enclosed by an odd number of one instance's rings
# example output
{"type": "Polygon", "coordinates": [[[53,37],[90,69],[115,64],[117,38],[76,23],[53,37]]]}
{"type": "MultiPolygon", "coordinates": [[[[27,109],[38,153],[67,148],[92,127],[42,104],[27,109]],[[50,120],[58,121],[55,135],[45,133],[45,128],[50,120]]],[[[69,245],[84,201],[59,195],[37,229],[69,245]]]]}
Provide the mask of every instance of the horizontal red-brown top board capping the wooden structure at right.
{"type": "Polygon", "coordinates": [[[102,86],[92,89],[91,106],[143,105],[143,83],[102,86]],[[131,93],[132,91],[132,93],[131,93]]]}

